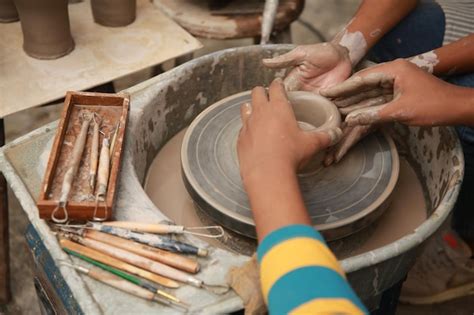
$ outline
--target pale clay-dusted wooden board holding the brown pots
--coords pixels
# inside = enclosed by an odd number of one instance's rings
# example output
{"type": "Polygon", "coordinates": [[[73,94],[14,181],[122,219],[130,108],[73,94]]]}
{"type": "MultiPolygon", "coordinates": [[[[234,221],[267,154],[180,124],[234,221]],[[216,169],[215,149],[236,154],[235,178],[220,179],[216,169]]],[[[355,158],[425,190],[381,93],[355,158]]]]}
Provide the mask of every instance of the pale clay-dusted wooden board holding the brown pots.
{"type": "Polygon", "coordinates": [[[75,49],[56,60],[25,54],[20,22],[0,23],[0,117],[188,54],[202,45],[147,0],[126,27],[94,23],[89,1],[70,4],[75,49]]]}

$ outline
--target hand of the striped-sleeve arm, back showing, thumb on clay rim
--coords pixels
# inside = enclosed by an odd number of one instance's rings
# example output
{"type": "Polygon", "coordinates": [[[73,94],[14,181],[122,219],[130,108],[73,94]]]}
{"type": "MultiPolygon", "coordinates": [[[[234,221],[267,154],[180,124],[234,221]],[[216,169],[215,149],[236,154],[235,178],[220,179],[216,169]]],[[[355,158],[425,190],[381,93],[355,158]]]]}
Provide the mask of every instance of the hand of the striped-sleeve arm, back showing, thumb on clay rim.
{"type": "Polygon", "coordinates": [[[242,129],[237,143],[240,173],[247,176],[259,168],[295,172],[312,155],[336,143],[342,131],[308,132],[299,128],[281,79],[272,82],[268,96],[263,87],[252,90],[252,103],[241,107],[242,129]]]}

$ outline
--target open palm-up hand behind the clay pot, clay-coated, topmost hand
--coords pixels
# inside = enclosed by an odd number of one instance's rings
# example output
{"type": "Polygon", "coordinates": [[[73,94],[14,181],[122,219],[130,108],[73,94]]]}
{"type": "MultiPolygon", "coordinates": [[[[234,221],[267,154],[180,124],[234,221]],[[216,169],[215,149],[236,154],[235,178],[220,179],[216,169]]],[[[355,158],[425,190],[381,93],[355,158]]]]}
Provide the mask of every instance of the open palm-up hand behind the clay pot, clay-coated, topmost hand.
{"type": "Polygon", "coordinates": [[[334,43],[298,46],[292,51],[263,59],[269,68],[293,67],[284,79],[288,91],[318,92],[347,79],[352,72],[349,51],[334,43]]]}

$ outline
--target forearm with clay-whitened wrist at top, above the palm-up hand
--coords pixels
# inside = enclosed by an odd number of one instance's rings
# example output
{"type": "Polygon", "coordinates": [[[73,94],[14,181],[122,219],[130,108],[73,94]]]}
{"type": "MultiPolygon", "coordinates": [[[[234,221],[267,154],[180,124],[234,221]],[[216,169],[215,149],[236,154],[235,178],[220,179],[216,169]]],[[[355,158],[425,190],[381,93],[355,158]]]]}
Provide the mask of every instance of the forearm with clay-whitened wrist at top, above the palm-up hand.
{"type": "Polygon", "coordinates": [[[384,34],[416,7],[417,2],[365,0],[333,42],[345,46],[352,64],[356,65],[384,34]]]}

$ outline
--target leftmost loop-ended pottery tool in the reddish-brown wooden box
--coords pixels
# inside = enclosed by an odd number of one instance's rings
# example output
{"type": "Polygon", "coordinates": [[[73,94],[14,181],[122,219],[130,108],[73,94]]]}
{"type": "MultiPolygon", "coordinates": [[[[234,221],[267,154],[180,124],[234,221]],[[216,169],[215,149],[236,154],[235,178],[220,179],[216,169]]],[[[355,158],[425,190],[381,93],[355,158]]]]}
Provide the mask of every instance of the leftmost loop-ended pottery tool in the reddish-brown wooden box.
{"type": "Polygon", "coordinates": [[[89,130],[89,125],[92,120],[92,115],[90,112],[83,111],[81,112],[80,116],[82,118],[81,131],[79,132],[79,135],[77,136],[77,139],[74,143],[74,147],[72,149],[69,167],[66,171],[66,174],[64,175],[63,183],[61,186],[61,195],[59,197],[58,205],[51,213],[51,219],[56,223],[64,223],[69,220],[66,204],[69,198],[69,193],[71,192],[72,182],[74,181],[74,177],[76,176],[77,170],[79,169],[82,153],[84,151],[84,147],[87,140],[87,131],[89,130]],[[59,219],[56,216],[56,213],[60,209],[63,210],[64,219],[59,219]]]}

